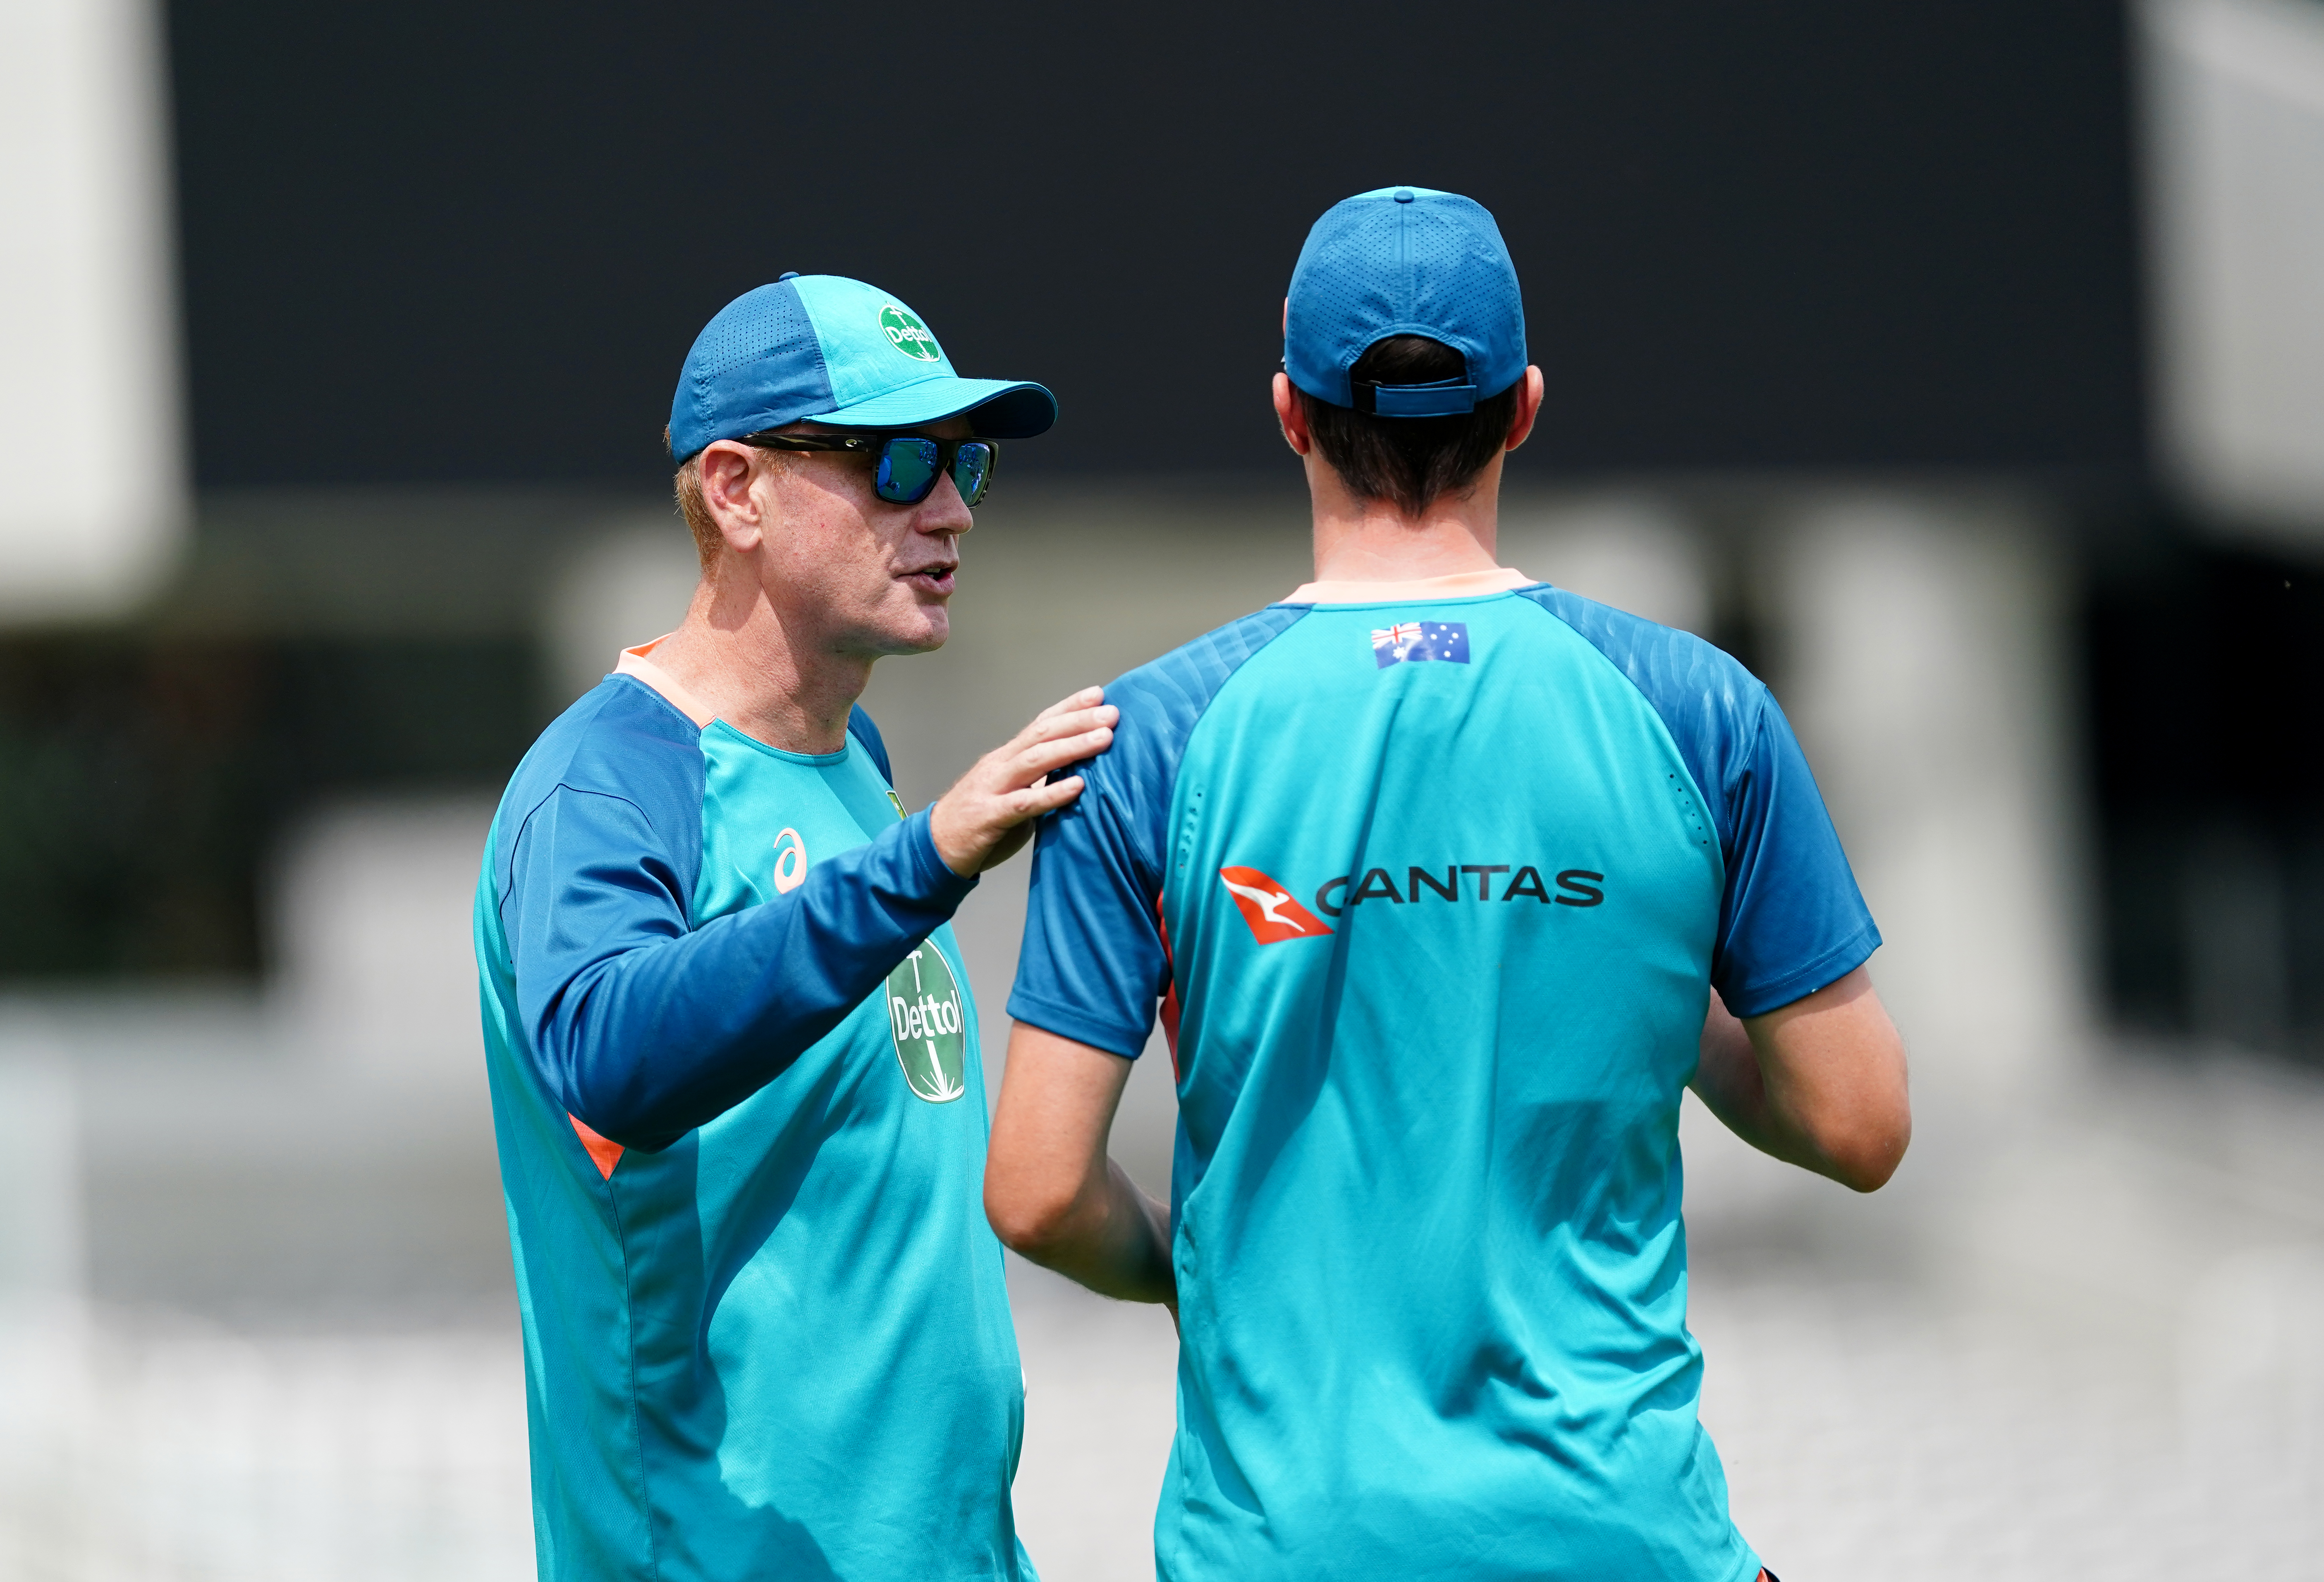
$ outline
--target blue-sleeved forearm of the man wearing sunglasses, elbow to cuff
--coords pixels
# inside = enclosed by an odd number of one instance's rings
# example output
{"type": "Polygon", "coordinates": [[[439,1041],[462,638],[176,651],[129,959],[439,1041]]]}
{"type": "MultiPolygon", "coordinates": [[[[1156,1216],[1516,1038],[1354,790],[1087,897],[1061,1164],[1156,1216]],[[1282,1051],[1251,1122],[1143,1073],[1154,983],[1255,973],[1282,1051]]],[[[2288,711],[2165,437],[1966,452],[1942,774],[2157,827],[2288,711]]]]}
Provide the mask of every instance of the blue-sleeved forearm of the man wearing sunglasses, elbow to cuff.
{"type": "Polygon", "coordinates": [[[572,973],[532,1017],[537,1055],[583,1124],[660,1148],[790,1069],[971,885],[934,855],[925,818],[897,825],[790,894],[572,973]]]}

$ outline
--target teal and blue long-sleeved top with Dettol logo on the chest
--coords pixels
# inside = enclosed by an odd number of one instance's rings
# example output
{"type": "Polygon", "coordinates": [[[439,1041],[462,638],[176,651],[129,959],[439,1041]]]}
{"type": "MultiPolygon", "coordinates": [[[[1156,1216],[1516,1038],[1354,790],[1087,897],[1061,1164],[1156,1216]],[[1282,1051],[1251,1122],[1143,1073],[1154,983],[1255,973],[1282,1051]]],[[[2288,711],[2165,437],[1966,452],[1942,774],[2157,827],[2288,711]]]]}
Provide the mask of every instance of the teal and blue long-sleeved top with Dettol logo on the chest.
{"type": "Polygon", "coordinates": [[[1032,1577],[974,880],[860,711],[783,753],[623,671],[476,887],[539,1575],[1032,1577]]]}

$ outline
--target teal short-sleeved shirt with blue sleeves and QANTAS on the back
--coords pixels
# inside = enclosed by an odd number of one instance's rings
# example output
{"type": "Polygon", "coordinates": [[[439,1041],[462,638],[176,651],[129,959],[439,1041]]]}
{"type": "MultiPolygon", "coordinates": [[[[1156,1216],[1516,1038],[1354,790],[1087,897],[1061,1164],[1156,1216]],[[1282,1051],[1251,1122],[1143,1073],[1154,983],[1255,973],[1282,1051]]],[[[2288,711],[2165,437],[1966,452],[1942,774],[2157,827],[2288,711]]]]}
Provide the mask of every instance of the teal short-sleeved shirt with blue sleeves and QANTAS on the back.
{"type": "Polygon", "coordinates": [[[1759,1561],[1697,1422],[1680,1094],[1878,945],[1783,713],[1501,574],[1332,585],[1109,688],[1011,1013],[1171,1031],[1174,1582],[1759,1561]]]}

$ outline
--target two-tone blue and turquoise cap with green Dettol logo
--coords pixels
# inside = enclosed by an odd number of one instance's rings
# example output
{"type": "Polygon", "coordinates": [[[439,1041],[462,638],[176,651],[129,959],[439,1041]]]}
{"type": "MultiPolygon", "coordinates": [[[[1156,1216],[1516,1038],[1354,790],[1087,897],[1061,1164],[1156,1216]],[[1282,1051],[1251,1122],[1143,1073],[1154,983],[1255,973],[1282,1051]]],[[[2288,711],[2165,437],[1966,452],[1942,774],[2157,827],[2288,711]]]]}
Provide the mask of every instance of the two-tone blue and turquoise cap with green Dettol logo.
{"type": "Polygon", "coordinates": [[[786,274],[702,325],[669,400],[669,458],[813,418],[920,427],[967,416],[983,439],[1032,439],[1057,420],[1037,383],[962,379],[909,307],[844,274],[786,274]]]}

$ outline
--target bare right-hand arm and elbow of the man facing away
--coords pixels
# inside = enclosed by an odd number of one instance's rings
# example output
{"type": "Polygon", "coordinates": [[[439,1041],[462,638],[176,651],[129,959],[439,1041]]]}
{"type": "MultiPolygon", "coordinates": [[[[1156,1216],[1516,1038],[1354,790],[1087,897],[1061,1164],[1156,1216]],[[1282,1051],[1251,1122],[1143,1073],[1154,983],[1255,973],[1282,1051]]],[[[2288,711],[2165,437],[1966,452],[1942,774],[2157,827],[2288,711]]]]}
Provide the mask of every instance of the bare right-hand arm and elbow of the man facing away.
{"type": "Polygon", "coordinates": [[[1913,1141],[1903,1038],[1862,966],[1741,1022],[1713,990],[1690,1087],[1759,1152],[1857,1192],[1882,1187],[1913,1141]]]}

